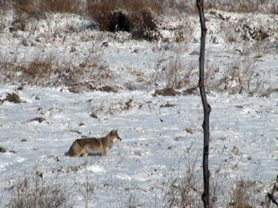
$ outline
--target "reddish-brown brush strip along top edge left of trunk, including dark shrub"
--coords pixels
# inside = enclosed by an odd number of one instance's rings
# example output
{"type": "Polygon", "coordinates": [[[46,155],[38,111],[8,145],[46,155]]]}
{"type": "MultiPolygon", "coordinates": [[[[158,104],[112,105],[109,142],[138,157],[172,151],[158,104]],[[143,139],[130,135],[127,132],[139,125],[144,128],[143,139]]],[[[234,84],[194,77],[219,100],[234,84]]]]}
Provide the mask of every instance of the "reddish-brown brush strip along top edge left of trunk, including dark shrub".
{"type": "MultiPolygon", "coordinates": [[[[7,3],[8,4],[8,3],[7,3]]],[[[7,5],[5,4],[5,5],[7,5]]],[[[170,4],[170,6],[173,6],[170,4]]],[[[156,40],[160,1],[13,1],[13,27],[25,31],[28,21],[44,19],[46,12],[73,13],[91,17],[101,31],[126,31],[135,39],[156,40]],[[140,8],[140,9],[138,9],[140,8]]],[[[179,7],[175,7],[179,8],[179,7]]],[[[0,9],[1,10],[1,9],[0,9]]],[[[2,10],[3,11],[3,10],[2,10]]]]}

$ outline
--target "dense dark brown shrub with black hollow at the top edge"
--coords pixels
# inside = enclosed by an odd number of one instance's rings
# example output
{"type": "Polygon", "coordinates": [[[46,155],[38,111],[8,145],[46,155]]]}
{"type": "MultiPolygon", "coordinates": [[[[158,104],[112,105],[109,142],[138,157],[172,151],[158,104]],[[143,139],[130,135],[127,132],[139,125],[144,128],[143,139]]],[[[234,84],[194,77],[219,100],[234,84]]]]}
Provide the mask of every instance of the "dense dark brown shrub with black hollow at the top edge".
{"type": "Polygon", "coordinates": [[[136,39],[154,39],[155,14],[160,11],[156,1],[88,1],[88,14],[102,31],[130,31],[136,39]]]}

